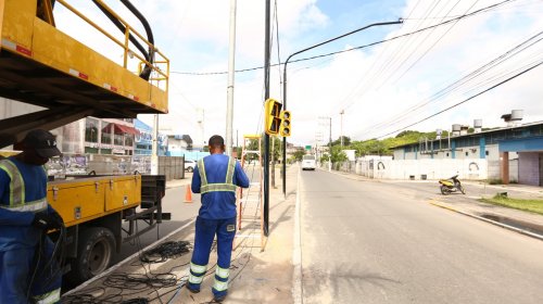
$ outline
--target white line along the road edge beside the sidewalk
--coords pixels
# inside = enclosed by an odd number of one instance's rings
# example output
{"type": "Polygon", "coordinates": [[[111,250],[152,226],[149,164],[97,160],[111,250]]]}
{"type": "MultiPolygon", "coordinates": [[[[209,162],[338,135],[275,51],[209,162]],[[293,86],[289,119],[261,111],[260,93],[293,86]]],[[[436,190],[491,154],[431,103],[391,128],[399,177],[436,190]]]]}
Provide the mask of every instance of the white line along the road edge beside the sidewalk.
{"type": "Polygon", "coordinates": [[[294,304],[303,303],[302,297],[302,248],[301,248],[301,233],[300,233],[300,179],[301,170],[298,167],[298,182],[296,182],[296,206],[294,211],[294,244],[292,249],[292,264],[294,271],[292,274],[292,297],[294,304]]]}

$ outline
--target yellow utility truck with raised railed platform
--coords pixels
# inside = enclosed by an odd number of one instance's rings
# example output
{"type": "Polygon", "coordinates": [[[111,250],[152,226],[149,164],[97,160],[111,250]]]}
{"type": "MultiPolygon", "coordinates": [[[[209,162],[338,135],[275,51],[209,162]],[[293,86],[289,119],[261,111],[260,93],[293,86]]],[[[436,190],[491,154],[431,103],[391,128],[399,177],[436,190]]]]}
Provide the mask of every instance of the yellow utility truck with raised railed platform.
{"type": "MultiPolygon", "coordinates": [[[[31,129],[51,130],[87,116],[167,113],[169,61],[154,46],[143,15],[128,0],[116,3],[141,22],[144,35],[102,0],[85,2],[94,4],[118,31],[108,31],[110,27],[91,18],[94,14],[76,9],[79,0],[0,1],[0,102],[15,100],[40,109],[0,117],[0,148],[21,141],[31,129]],[[56,28],[53,12],[59,5],[63,15],[79,18],[116,46],[121,62],[101,53],[112,50],[97,51],[56,28]]],[[[81,281],[108,268],[124,241],[161,223],[164,193],[164,176],[50,178],[49,203],[67,228],[66,275],[81,281]],[[138,220],[148,224],[144,229],[137,229],[138,220]]]]}

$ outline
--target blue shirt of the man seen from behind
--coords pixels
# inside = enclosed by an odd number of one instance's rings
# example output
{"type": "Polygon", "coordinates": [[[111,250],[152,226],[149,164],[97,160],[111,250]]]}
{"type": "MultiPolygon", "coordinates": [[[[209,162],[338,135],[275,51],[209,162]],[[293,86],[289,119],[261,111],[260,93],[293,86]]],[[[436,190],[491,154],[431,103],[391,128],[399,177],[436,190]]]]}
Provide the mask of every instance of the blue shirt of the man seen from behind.
{"type": "MultiPolygon", "coordinates": [[[[225,182],[228,170],[228,155],[211,154],[203,159],[205,177],[207,183],[225,182]]],[[[236,161],[233,169],[233,185],[241,188],[249,188],[249,178],[236,161]]],[[[198,165],[192,175],[192,192],[200,193],[202,179],[198,165]]],[[[236,217],[236,193],[230,191],[214,191],[202,194],[202,206],[199,212],[200,217],[207,219],[225,219],[236,217]]]]}

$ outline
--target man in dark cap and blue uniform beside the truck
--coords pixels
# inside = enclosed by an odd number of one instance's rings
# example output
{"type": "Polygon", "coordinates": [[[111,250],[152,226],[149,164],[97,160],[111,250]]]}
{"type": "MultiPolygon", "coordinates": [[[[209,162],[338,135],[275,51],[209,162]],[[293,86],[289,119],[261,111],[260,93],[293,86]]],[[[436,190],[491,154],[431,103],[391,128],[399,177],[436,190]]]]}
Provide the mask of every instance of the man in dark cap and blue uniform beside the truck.
{"type": "Polygon", "coordinates": [[[46,231],[63,223],[47,202],[43,165],[61,152],[40,129],[21,144],[22,153],[0,160],[0,304],[58,303],[62,274],[46,231]]]}

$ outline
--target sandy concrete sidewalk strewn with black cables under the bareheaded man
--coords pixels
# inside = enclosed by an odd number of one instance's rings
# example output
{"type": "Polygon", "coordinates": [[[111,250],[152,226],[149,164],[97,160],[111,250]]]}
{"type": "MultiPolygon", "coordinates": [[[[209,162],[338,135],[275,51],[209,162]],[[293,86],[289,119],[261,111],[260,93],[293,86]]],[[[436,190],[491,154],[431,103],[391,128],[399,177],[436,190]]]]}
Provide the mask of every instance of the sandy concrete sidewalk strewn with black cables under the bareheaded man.
{"type": "MultiPolygon", "coordinates": [[[[287,170],[287,197],[281,189],[281,179],[276,174],[277,189],[269,193],[269,237],[264,250],[261,239],[244,239],[232,251],[230,267],[229,294],[223,303],[293,303],[293,229],[298,188],[296,165],[287,170]]],[[[189,185],[190,179],[174,180],[171,187],[189,185]]],[[[199,203],[200,195],[193,194],[199,203]]],[[[166,241],[189,241],[193,243],[193,220],[180,227],[157,243],[166,241]]],[[[154,248],[152,244],[142,251],[154,248]]],[[[139,256],[131,256],[112,267],[102,276],[93,278],[63,295],[62,303],[99,303],[104,301],[122,303],[127,300],[146,299],[149,303],[214,303],[211,286],[213,284],[216,248],[212,249],[207,275],[200,293],[190,293],[186,282],[191,252],[164,263],[143,264],[139,256]],[[175,276],[175,277],[174,277],[175,276]],[[136,277],[138,280],[127,280],[136,277]],[[176,283],[164,286],[167,278],[175,278],[176,283]],[[92,302],[92,301],[96,302],[92,302]]]]}

